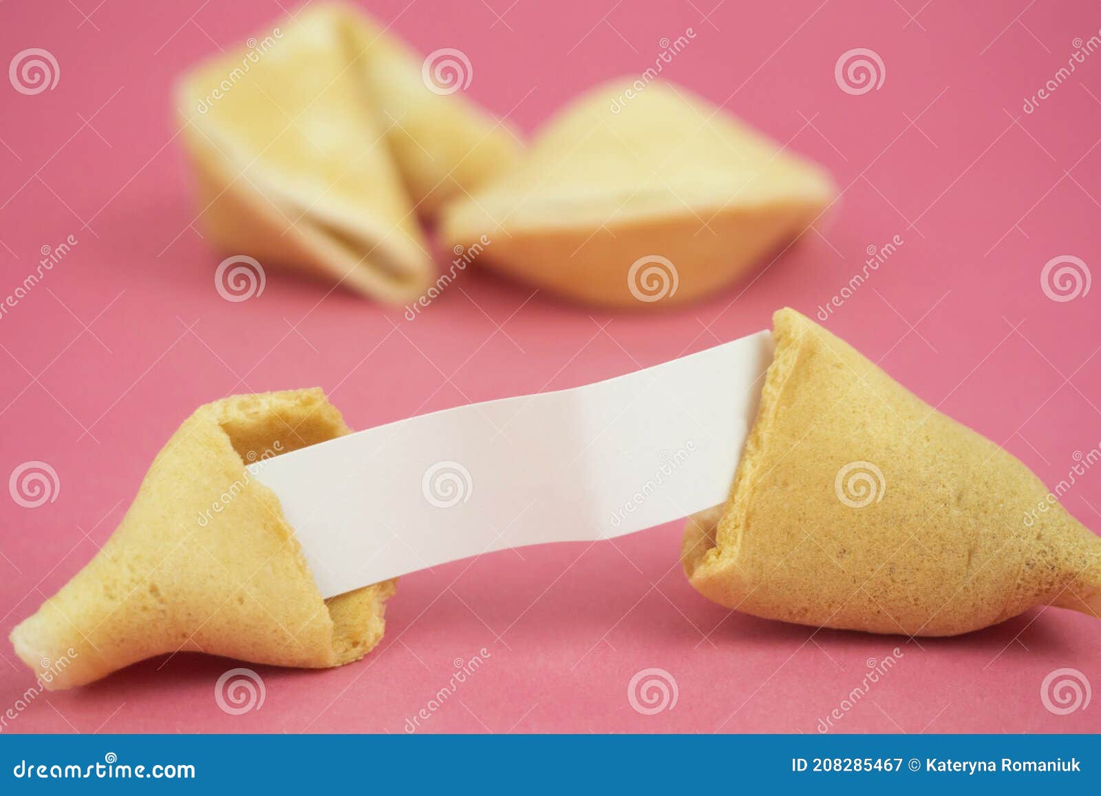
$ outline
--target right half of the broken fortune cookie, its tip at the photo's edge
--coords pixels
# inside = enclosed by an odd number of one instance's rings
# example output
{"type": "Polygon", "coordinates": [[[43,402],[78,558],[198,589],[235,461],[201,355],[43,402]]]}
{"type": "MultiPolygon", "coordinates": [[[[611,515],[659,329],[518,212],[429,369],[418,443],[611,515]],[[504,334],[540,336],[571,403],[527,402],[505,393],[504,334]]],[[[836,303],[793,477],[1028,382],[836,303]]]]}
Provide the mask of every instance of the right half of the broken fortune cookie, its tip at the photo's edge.
{"type": "Polygon", "coordinates": [[[792,309],[726,505],[682,560],[705,597],[826,628],[953,635],[1101,615],[1101,538],[1021,461],[792,309]]]}

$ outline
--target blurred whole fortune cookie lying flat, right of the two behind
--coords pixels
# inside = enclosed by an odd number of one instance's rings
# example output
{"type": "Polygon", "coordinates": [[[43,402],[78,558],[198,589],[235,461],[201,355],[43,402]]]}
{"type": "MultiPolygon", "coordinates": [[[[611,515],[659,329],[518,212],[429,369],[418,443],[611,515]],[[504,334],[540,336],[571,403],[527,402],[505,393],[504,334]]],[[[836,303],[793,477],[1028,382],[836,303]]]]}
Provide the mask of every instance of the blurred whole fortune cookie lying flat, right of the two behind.
{"type": "Polygon", "coordinates": [[[448,205],[442,237],[480,241],[479,262],[568,298],[667,306],[738,279],[836,195],[822,168],[687,90],[615,83],[448,205]]]}

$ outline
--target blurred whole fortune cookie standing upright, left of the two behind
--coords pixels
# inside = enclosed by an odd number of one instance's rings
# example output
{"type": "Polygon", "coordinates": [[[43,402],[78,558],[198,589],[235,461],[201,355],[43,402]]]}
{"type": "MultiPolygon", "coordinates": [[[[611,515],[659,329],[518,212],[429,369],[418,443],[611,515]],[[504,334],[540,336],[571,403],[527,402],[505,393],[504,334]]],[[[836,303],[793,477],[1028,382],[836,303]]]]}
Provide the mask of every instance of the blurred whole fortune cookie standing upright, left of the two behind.
{"type": "Polygon", "coordinates": [[[205,232],[373,298],[421,295],[436,269],[418,216],[520,151],[501,122],[429,79],[462,80],[454,67],[323,4],[193,68],[176,106],[205,232]]]}

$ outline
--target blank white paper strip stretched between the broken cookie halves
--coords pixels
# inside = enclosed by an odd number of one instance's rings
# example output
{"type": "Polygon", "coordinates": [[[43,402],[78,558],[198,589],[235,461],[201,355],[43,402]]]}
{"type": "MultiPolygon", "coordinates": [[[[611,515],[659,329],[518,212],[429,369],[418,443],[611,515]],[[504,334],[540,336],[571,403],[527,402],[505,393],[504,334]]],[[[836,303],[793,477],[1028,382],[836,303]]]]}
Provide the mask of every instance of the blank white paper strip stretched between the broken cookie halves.
{"type": "Polygon", "coordinates": [[[412,417],[268,459],[324,597],[509,547],[604,539],[726,500],[767,331],[573,390],[412,417]]]}

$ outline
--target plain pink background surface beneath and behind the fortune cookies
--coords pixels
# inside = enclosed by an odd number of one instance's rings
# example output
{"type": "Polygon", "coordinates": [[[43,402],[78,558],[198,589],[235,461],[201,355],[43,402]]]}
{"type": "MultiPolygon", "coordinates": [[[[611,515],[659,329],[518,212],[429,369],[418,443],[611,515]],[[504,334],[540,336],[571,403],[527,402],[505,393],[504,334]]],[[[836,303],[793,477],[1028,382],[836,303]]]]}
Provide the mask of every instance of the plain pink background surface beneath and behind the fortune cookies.
{"type": "MultiPolygon", "coordinates": [[[[865,249],[904,244],[827,326],[918,395],[978,428],[1048,483],[1101,443],[1101,286],[1070,302],[1040,269],[1098,270],[1101,54],[1039,103],[1031,96],[1101,26],[1095,2],[372,2],[422,51],[470,57],[469,94],[531,131],[578,91],[636,76],[662,37],[696,39],[665,74],[825,163],[843,188],[824,235],[711,301],[658,315],[564,305],[477,270],[415,321],[325,284],[269,271],[263,295],[215,291],[211,250],[170,109],[185,66],[277,24],[274,0],[0,6],[0,66],[44,47],[56,88],[0,80],[0,294],[42,247],[78,244],[0,319],[0,476],[41,459],[57,499],[0,500],[0,632],[64,584],[110,534],[153,455],[201,402],[319,384],[364,427],[470,401],[560,389],[813,315],[865,249]],[[705,13],[707,17],[705,17],[705,13]],[[87,17],[85,17],[87,14],[87,17]],[[838,56],[876,51],[880,90],[842,92],[838,56]]],[[[1101,276],[1101,274],[1098,274],[1101,276]]],[[[1101,528],[1101,471],[1064,499],[1101,528]]],[[[423,731],[785,731],[860,684],[868,658],[904,657],[838,731],[1087,731],[1101,697],[1056,716],[1058,667],[1101,686],[1101,625],[1033,611],[955,640],[876,637],[729,614],[677,565],[680,523],[613,544],[503,552],[402,579],[363,662],[257,667],[261,709],[228,716],[214,684],[235,662],[179,654],[48,694],[7,731],[402,732],[453,661],[484,667],[423,731]],[[671,673],[672,710],[626,689],[671,673]]],[[[0,711],[32,685],[0,644],[0,711]]]]}

